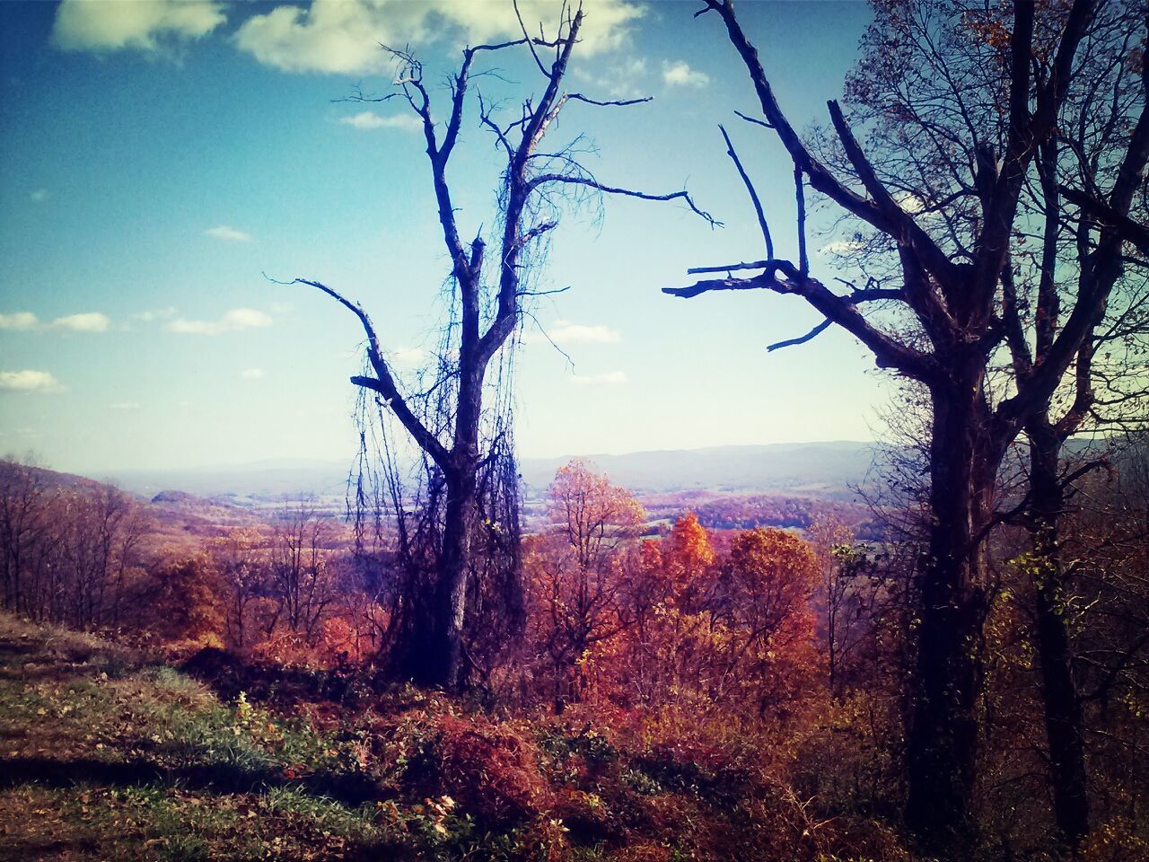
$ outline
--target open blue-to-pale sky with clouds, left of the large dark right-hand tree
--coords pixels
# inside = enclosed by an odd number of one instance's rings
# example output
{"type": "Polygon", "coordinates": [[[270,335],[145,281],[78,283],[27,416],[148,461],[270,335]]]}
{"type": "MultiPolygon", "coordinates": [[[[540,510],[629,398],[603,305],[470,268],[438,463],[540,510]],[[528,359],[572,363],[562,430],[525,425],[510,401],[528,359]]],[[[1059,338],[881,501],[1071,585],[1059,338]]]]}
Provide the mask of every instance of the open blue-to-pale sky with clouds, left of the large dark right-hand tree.
{"type": "MultiPolygon", "coordinates": [[[[558,3],[519,8],[545,22],[558,3]]],[[[753,91],[697,8],[586,3],[570,88],[654,99],[572,105],[555,143],[585,134],[601,182],[686,187],[724,226],[620,199],[565,217],[538,287],[570,290],[537,301],[517,359],[523,455],[874,433],[886,384],[850,337],[766,352],[818,322],[800,300],[660,291],[688,284],[689,267],[763,254],[719,123],[779,253],[795,245],[788,161],[734,115],[755,111],[753,91]]],[[[869,7],[738,8],[794,123],[824,120],[869,7]]],[[[392,90],[380,43],[409,45],[438,84],[464,44],[517,29],[509,3],[463,0],[0,3],[0,453],[92,476],[346,459],[361,330],[329,298],[271,279],[362,301],[409,375],[435,344],[448,267],[409,110],[342,99],[392,90]]],[[[512,106],[539,87],[529,55],[496,66],[479,83],[488,98],[512,106]]],[[[464,236],[495,221],[496,156],[472,106],[449,176],[464,236]]],[[[824,279],[840,275],[833,241],[812,243],[824,279]]]]}

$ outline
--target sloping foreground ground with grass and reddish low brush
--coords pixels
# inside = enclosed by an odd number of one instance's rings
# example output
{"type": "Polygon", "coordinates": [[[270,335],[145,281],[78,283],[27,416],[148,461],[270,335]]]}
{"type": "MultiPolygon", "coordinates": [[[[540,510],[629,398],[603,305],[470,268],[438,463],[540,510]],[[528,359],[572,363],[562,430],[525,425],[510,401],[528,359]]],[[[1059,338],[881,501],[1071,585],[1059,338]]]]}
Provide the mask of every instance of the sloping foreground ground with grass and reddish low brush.
{"type": "Polygon", "coordinates": [[[763,748],[341,671],[182,663],[0,613],[0,862],[895,862],[763,748]]]}

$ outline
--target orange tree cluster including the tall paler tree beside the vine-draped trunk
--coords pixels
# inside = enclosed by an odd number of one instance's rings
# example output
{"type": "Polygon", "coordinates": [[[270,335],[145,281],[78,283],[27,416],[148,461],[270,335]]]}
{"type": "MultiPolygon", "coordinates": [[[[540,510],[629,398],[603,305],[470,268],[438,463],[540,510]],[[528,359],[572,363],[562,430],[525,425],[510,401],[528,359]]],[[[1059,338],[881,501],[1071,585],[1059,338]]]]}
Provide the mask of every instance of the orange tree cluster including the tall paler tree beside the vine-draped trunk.
{"type": "Polygon", "coordinates": [[[556,475],[548,514],[526,568],[537,690],[556,710],[601,703],[668,734],[801,710],[818,668],[803,539],[755,529],[718,552],[694,515],[640,539],[639,502],[579,462],[556,475]]]}

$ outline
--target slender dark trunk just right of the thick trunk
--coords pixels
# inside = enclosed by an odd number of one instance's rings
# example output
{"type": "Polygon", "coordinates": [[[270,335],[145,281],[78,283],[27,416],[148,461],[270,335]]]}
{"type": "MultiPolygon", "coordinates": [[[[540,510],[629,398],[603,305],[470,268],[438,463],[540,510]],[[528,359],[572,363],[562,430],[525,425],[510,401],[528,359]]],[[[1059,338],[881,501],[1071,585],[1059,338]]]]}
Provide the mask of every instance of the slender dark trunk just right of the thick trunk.
{"type": "Polygon", "coordinates": [[[1062,441],[1047,416],[1027,428],[1033,577],[1038,616],[1038,656],[1049,744],[1054,816],[1071,849],[1089,831],[1081,700],[1073,680],[1073,657],[1065,624],[1065,570],[1059,519],[1065,503],[1058,480],[1062,441]]]}

